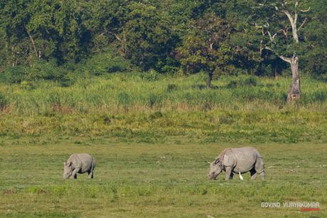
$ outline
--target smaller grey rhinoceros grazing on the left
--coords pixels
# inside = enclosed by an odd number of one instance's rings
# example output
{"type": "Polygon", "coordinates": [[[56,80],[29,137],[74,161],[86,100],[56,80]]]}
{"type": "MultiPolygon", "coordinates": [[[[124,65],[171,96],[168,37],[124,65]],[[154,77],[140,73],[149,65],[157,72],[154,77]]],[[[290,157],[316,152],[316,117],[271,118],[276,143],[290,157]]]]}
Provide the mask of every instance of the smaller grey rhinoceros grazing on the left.
{"type": "Polygon", "coordinates": [[[88,154],[73,154],[67,162],[63,162],[63,179],[73,176],[77,179],[77,173],[88,172],[88,177],[93,179],[95,159],[88,154]]]}

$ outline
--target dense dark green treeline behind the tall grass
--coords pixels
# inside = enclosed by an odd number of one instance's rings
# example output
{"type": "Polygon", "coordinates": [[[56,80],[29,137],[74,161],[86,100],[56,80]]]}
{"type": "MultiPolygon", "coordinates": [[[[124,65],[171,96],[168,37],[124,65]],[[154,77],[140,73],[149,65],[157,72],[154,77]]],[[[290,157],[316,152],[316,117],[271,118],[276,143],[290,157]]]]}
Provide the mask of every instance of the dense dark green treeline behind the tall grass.
{"type": "Polygon", "coordinates": [[[3,0],[1,80],[68,80],[133,66],[205,71],[210,79],[276,76],[289,68],[281,56],[299,56],[301,73],[326,78],[326,21],[323,0],[3,0]]]}

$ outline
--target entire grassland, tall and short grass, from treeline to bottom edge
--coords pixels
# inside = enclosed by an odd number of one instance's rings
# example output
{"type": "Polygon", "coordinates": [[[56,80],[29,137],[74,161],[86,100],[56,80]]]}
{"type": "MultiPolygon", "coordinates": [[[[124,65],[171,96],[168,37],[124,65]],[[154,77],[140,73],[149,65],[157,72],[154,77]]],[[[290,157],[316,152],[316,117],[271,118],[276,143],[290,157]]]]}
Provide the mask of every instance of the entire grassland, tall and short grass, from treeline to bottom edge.
{"type": "Polygon", "coordinates": [[[118,73],[0,86],[0,217],[326,217],[327,85],[302,78],[118,73]],[[207,180],[225,147],[256,147],[267,179],[207,180]],[[62,179],[73,152],[95,179],[62,179]],[[320,212],[261,208],[319,202],[320,212]]]}

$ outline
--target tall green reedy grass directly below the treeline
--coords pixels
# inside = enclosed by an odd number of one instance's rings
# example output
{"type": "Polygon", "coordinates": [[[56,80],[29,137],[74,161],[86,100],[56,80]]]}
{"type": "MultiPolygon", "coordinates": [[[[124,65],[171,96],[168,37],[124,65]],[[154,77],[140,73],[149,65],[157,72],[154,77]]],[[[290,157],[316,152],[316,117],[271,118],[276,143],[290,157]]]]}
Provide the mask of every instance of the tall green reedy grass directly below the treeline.
{"type": "MultiPolygon", "coordinates": [[[[70,87],[39,81],[28,85],[1,85],[1,108],[10,113],[44,114],[102,113],[150,110],[276,110],[286,105],[289,78],[276,81],[253,76],[221,77],[213,89],[204,88],[202,74],[188,78],[160,77],[149,80],[137,73],[89,78],[70,87]],[[123,106],[123,107],[122,107],[123,106]],[[60,110],[66,108],[64,110],[60,110]],[[120,109],[119,109],[120,108],[120,109]],[[58,110],[58,111],[57,111],[58,110]]],[[[311,78],[302,80],[297,107],[321,110],[326,107],[327,85],[311,78]]],[[[4,113],[4,112],[3,112],[4,113]]]]}

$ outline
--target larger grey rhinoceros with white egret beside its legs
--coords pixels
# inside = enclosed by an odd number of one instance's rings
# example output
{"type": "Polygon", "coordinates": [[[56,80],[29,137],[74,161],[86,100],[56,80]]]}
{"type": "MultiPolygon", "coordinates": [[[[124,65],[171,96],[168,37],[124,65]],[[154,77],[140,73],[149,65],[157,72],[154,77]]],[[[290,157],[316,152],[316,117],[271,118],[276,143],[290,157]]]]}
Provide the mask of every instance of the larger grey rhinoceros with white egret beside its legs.
{"type": "Polygon", "coordinates": [[[209,162],[209,178],[215,180],[220,172],[226,172],[226,180],[232,179],[234,173],[250,172],[251,180],[259,174],[261,180],[265,178],[264,160],[259,152],[253,147],[226,148],[213,162],[209,162]]]}

